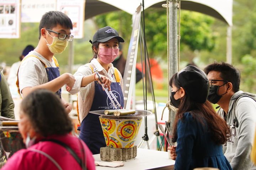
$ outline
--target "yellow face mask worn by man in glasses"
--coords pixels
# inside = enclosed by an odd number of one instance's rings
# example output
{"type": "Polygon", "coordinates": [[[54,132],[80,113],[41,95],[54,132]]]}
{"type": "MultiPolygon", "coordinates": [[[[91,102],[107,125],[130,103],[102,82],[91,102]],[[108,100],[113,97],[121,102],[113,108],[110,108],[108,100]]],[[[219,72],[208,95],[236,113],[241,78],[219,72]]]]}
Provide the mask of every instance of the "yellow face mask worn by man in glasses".
{"type": "MultiPolygon", "coordinates": [[[[47,32],[47,31],[46,31],[47,32]]],[[[47,32],[48,33],[48,32],[47,32]]],[[[49,34],[49,33],[48,33],[49,34]]],[[[50,34],[49,34],[50,35],[50,34]]],[[[47,45],[49,47],[49,50],[50,52],[54,53],[54,54],[60,54],[62,53],[66,47],[68,46],[68,41],[65,39],[65,40],[60,40],[58,37],[56,36],[52,36],[50,35],[52,38],[53,38],[53,42],[52,44],[48,44],[47,40],[47,45]]]]}

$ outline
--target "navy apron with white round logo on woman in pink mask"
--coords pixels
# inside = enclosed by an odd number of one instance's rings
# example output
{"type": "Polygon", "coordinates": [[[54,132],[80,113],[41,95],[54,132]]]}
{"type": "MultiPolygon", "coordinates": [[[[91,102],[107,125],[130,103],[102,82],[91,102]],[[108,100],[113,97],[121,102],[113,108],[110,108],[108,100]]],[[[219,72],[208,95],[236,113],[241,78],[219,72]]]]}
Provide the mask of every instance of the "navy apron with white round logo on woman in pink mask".
{"type": "MultiPolygon", "coordinates": [[[[118,73],[116,74],[115,72],[114,76],[118,81],[118,73]]],[[[90,111],[115,109],[111,104],[111,101],[108,98],[106,92],[103,91],[102,86],[98,83],[98,81],[94,81],[94,84],[94,100],[92,102],[90,111]]],[[[114,94],[114,96],[116,96],[117,101],[121,104],[121,107],[123,108],[123,92],[119,81],[111,83],[110,87],[112,93],[114,94]]],[[[92,154],[98,154],[100,153],[101,147],[106,147],[106,142],[101,129],[99,115],[92,113],[87,114],[87,116],[81,122],[79,138],[86,143],[92,154]]]]}

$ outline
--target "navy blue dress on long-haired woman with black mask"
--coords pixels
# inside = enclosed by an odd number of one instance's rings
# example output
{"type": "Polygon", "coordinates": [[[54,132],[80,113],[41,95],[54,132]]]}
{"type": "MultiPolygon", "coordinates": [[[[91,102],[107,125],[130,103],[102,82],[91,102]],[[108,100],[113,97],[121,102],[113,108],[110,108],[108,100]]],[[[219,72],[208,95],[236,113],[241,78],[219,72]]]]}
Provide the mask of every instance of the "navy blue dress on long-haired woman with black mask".
{"type": "Polygon", "coordinates": [[[194,120],[190,113],[185,113],[183,119],[178,121],[175,170],[200,167],[232,170],[222,145],[215,144],[207,129],[207,125],[194,120]]]}

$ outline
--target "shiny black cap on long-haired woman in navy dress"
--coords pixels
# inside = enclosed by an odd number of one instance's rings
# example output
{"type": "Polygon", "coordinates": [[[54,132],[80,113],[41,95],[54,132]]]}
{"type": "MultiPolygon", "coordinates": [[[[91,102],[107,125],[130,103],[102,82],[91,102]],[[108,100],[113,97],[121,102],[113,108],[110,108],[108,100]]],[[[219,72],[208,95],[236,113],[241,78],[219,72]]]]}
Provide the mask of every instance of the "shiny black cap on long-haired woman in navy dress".
{"type": "Polygon", "coordinates": [[[177,73],[178,82],[192,100],[204,103],[209,93],[207,75],[195,66],[187,66],[177,73]]]}

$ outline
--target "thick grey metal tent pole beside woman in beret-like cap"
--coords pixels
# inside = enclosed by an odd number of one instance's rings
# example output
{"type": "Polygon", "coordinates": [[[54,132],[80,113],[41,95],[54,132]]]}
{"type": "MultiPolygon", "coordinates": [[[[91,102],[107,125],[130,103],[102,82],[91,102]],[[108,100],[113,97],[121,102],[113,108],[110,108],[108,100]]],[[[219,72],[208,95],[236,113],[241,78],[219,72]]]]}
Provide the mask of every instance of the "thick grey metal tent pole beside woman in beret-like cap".
{"type": "MultiPolygon", "coordinates": [[[[178,2],[175,0],[167,0],[167,5],[169,5],[169,21],[167,21],[167,24],[169,24],[169,60],[168,60],[168,80],[178,72],[178,32],[177,32],[177,12],[178,12],[178,2]]],[[[171,96],[171,87],[168,85],[168,98],[171,96]]],[[[169,111],[169,121],[170,124],[173,124],[175,118],[175,112],[169,111]]]]}

